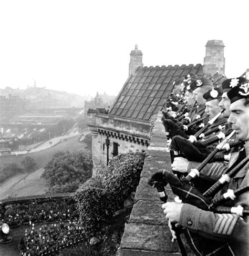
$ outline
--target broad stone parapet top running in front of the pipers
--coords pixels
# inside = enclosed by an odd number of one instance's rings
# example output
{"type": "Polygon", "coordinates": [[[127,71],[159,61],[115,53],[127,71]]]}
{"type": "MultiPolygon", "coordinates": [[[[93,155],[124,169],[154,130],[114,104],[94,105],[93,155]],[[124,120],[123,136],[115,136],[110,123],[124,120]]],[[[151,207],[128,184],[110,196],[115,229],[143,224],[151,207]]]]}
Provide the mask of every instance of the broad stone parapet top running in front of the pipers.
{"type": "MultiPolygon", "coordinates": [[[[129,223],[126,224],[120,244],[120,256],[176,256],[181,255],[177,242],[171,242],[168,222],[162,211],[162,201],[157,190],[148,185],[152,173],[171,169],[167,138],[162,125],[162,113],[159,112],[152,130],[150,146],[146,152],[135,204],[129,223]]],[[[166,188],[168,200],[174,200],[170,187],[166,188]]],[[[182,235],[181,235],[182,237],[182,235]]],[[[186,242],[182,237],[184,244],[186,242]]],[[[193,255],[186,245],[188,255],[193,255]]]]}

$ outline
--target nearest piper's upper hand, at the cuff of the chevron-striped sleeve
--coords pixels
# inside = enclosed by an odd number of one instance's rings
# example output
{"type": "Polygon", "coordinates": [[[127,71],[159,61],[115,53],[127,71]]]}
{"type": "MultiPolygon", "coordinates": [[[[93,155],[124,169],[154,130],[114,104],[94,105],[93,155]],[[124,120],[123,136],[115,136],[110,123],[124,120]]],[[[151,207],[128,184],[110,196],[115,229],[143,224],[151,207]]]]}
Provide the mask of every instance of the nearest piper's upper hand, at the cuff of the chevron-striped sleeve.
{"type": "Polygon", "coordinates": [[[167,202],[162,204],[163,213],[166,215],[165,218],[172,223],[180,221],[181,209],[183,203],[167,202]]]}

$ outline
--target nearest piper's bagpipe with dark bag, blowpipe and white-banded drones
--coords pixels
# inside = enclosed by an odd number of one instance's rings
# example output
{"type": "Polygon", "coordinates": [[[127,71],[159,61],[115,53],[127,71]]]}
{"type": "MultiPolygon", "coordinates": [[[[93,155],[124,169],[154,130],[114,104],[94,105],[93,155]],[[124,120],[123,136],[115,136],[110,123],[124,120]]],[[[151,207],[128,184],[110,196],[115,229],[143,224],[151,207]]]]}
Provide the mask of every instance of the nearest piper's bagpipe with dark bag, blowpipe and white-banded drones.
{"type": "Polygon", "coordinates": [[[231,179],[238,173],[238,171],[240,171],[246,165],[249,160],[249,156],[244,157],[242,154],[239,154],[237,161],[232,166],[227,167],[224,171],[224,175],[204,193],[201,193],[199,190],[193,187],[193,180],[200,176],[205,165],[219,150],[224,147],[233,134],[234,131],[231,132],[231,134],[227,136],[226,139],[224,139],[219,145],[217,145],[216,149],[209,156],[207,156],[198,167],[191,169],[190,173],[186,177],[182,177],[181,180],[174,175],[173,172],[163,170],[155,172],[148,181],[148,184],[157,188],[162,201],[167,201],[168,197],[167,194],[165,194],[164,187],[169,184],[172,192],[176,194],[183,203],[190,203],[202,210],[209,210],[213,212],[225,211],[224,213],[236,213],[240,216],[243,216],[243,214],[249,214],[249,209],[242,209],[241,207],[223,208],[219,206],[219,204],[224,203],[227,200],[234,200],[236,195],[247,191],[248,186],[244,186],[235,191],[229,190],[222,196],[213,198],[215,194],[219,192],[225,185],[230,183],[231,179]]]}

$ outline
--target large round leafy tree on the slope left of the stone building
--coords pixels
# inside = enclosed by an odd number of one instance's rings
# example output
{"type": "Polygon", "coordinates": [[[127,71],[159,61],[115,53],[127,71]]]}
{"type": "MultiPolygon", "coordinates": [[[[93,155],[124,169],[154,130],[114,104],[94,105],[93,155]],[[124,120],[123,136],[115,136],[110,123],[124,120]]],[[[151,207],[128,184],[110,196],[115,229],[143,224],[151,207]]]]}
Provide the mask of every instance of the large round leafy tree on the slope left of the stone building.
{"type": "Polygon", "coordinates": [[[89,153],[74,151],[57,153],[45,166],[43,176],[48,182],[48,192],[74,192],[92,175],[89,153]]]}

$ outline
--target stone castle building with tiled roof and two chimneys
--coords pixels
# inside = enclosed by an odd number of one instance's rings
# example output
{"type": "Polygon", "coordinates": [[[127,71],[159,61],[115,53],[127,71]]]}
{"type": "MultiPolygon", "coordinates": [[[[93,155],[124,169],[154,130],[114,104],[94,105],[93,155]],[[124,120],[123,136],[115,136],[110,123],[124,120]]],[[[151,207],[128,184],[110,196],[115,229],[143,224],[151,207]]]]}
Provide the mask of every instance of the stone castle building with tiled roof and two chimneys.
{"type": "Polygon", "coordinates": [[[94,163],[107,164],[119,153],[147,149],[150,119],[162,110],[174,80],[194,73],[198,77],[218,77],[221,82],[224,69],[224,44],[221,40],[207,42],[203,65],[143,67],[142,52],[136,45],[130,53],[128,79],[108,113],[88,112],[94,163]]]}

